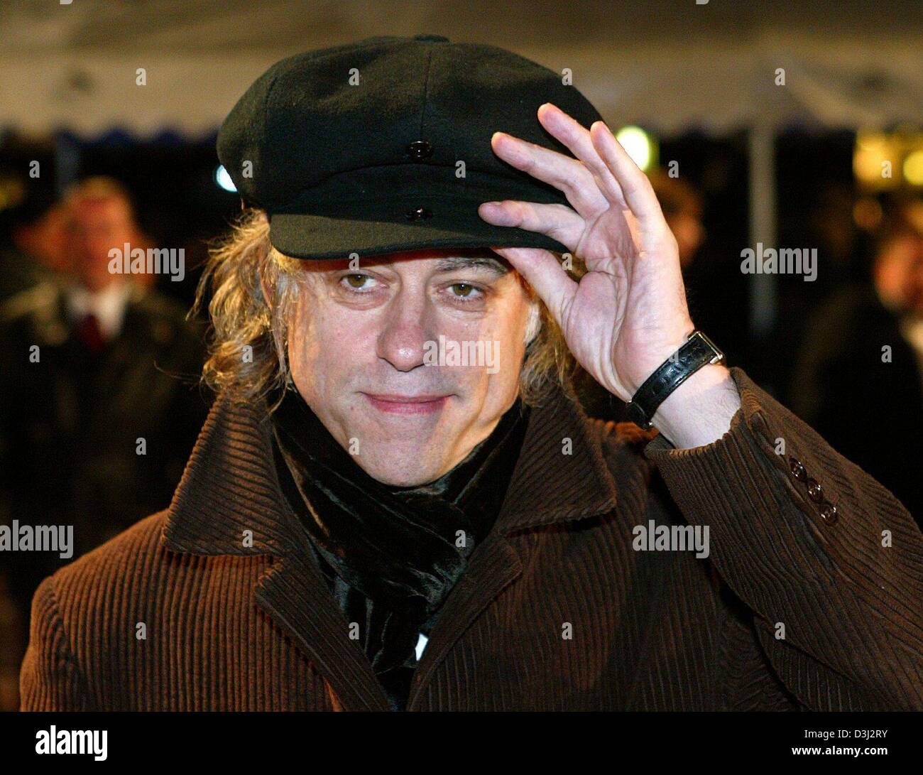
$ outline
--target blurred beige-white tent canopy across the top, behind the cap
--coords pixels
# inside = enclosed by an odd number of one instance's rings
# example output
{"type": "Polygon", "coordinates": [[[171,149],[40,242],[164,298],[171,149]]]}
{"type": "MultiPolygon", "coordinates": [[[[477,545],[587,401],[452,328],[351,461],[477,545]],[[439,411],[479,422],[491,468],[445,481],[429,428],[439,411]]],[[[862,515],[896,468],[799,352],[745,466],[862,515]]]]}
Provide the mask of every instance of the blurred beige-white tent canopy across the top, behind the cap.
{"type": "Polygon", "coordinates": [[[608,121],[662,134],[923,121],[920,0],[801,5],[22,0],[0,6],[0,127],[196,137],[282,56],[421,32],[569,68],[608,121]]]}

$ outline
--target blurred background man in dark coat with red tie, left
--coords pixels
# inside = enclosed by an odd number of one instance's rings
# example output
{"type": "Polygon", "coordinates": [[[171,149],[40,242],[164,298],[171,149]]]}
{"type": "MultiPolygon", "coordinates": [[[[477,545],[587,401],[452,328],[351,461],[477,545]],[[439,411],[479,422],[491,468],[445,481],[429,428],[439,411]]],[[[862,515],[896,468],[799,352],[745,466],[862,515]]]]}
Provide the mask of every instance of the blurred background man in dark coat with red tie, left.
{"type": "Polygon", "coordinates": [[[119,183],[79,183],[21,236],[56,276],[0,305],[0,516],[74,527],[70,558],[0,555],[28,623],[43,576],[170,502],[207,402],[182,379],[201,368],[201,331],[152,277],[109,271],[113,248],[147,245],[119,183]]]}

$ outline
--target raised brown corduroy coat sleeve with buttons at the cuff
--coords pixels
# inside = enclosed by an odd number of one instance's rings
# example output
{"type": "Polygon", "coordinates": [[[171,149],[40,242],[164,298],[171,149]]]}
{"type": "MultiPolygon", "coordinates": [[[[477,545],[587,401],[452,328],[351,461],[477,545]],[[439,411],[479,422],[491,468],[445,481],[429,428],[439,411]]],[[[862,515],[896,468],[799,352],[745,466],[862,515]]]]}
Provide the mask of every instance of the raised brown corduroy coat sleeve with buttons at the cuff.
{"type": "MultiPolygon", "coordinates": [[[[804,706],[923,709],[917,524],[744,371],[731,375],[741,408],[721,439],[677,450],[657,436],[645,456],[689,524],[709,527],[714,566],[804,706]]],[[[883,432],[900,443],[900,429],[883,432]]]]}

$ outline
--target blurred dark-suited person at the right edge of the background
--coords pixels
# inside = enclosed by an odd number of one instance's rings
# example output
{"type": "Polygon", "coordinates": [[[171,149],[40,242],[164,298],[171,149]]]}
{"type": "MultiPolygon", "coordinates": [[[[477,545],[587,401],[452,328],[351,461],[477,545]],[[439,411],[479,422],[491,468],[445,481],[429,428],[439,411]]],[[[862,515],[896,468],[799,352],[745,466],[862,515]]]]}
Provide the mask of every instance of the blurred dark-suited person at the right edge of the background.
{"type": "Polygon", "coordinates": [[[923,202],[899,208],[872,282],[847,285],[809,321],[791,406],[833,448],[923,515],[923,202]],[[899,439],[895,438],[899,434],[899,439]]]}

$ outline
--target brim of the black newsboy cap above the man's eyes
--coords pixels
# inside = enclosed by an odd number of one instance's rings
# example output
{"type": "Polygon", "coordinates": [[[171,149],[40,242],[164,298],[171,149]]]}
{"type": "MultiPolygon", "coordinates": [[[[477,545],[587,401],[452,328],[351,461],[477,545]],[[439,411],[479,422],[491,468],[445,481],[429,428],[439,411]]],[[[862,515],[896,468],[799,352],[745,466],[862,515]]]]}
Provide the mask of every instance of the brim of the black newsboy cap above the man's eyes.
{"type": "Polygon", "coordinates": [[[270,241],[296,259],[347,259],[426,248],[545,248],[567,252],[557,240],[510,226],[488,224],[480,201],[416,196],[342,208],[336,214],[270,214],[270,241]],[[427,217],[408,213],[424,208],[427,217]],[[350,212],[352,211],[352,212],[350,212]]]}

